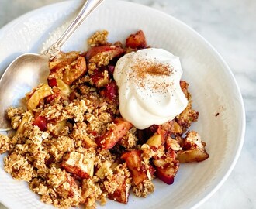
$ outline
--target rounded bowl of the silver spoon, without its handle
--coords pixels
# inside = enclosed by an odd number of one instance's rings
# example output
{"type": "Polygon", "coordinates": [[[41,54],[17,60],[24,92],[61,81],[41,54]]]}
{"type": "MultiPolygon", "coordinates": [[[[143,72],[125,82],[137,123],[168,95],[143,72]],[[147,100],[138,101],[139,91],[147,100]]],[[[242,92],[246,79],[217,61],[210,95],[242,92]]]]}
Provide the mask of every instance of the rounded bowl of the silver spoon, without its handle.
{"type": "Polygon", "coordinates": [[[10,130],[12,126],[6,119],[9,107],[22,106],[22,98],[39,83],[47,81],[50,54],[26,53],[13,60],[5,70],[0,81],[0,130],[10,130]]]}

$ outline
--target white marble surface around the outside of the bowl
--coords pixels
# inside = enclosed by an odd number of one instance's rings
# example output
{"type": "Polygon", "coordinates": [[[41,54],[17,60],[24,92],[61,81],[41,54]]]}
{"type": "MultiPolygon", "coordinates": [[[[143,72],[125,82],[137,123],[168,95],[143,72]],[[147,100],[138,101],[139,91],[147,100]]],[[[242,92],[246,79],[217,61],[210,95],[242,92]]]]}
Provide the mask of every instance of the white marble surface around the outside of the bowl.
{"type": "MultiPolygon", "coordinates": [[[[0,0],[0,28],[19,15],[60,0],[0,0]]],[[[247,116],[244,147],[220,190],[199,209],[256,208],[256,1],[130,0],[181,19],[204,36],[230,65],[247,116]]],[[[0,209],[5,208],[0,204],[0,209]]],[[[170,207],[171,208],[171,207],[170,207]]]]}

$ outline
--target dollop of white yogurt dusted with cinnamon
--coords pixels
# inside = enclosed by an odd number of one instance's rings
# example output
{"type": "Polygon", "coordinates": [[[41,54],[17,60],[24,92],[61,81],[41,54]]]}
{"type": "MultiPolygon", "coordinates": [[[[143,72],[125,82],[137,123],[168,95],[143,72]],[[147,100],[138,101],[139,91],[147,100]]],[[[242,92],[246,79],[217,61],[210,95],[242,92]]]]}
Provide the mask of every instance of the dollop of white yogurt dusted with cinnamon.
{"type": "Polygon", "coordinates": [[[182,73],[179,58],[163,49],[138,50],[121,57],[114,79],[122,117],[139,129],[174,119],[188,104],[180,87],[182,73]]]}

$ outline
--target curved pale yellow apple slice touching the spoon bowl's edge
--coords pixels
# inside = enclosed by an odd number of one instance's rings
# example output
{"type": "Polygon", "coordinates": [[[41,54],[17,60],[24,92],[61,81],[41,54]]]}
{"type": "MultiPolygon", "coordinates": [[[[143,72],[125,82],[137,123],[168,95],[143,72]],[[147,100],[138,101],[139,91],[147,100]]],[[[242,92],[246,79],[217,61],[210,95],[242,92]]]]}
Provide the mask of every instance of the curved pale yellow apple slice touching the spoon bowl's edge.
{"type": "Polygon", "coordinates": [[[47,84],[43,84],[40,86],[36,91],[33,92],[31,97],[26,102],[26,106],[28,110],[33,110],[34,108],[39,105],[40,100],[53,94],[53,91],[51,90],[51,87],[49,87],[47,84]]]}

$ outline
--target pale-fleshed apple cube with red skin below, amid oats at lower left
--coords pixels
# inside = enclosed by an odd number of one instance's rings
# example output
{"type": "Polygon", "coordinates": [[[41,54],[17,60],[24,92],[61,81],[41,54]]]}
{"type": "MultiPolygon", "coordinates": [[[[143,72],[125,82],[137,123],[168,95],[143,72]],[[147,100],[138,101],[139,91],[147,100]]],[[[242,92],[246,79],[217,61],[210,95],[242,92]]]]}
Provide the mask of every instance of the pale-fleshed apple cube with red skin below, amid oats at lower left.
{"type": "Polygon", "coordinates": [[[94,159],[79,152],[69,152],[64,156],[61,167],[81,179],[88,179],[93,176],[94,159]]]}

